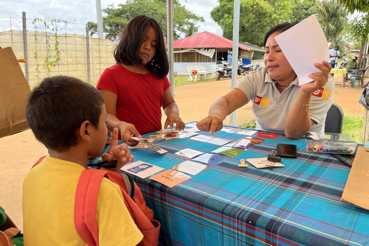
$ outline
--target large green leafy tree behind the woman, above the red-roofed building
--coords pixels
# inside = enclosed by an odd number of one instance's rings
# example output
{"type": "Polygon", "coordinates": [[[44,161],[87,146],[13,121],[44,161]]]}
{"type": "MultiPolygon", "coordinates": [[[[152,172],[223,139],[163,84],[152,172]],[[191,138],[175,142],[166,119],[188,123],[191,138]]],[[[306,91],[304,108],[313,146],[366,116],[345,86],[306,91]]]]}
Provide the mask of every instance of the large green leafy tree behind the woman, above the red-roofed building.
{"type": "MultiPolygon", "coordinates": [[[[210,12],[211,18],[222,28],[223,37],[232,39],[233,1],[218,0],[210,12]]],[[[241,0],[239,40],[264,46],[266,32],[273,26],[289,21],[301,21],[313,14],[313,0],[241,0]]]]}

